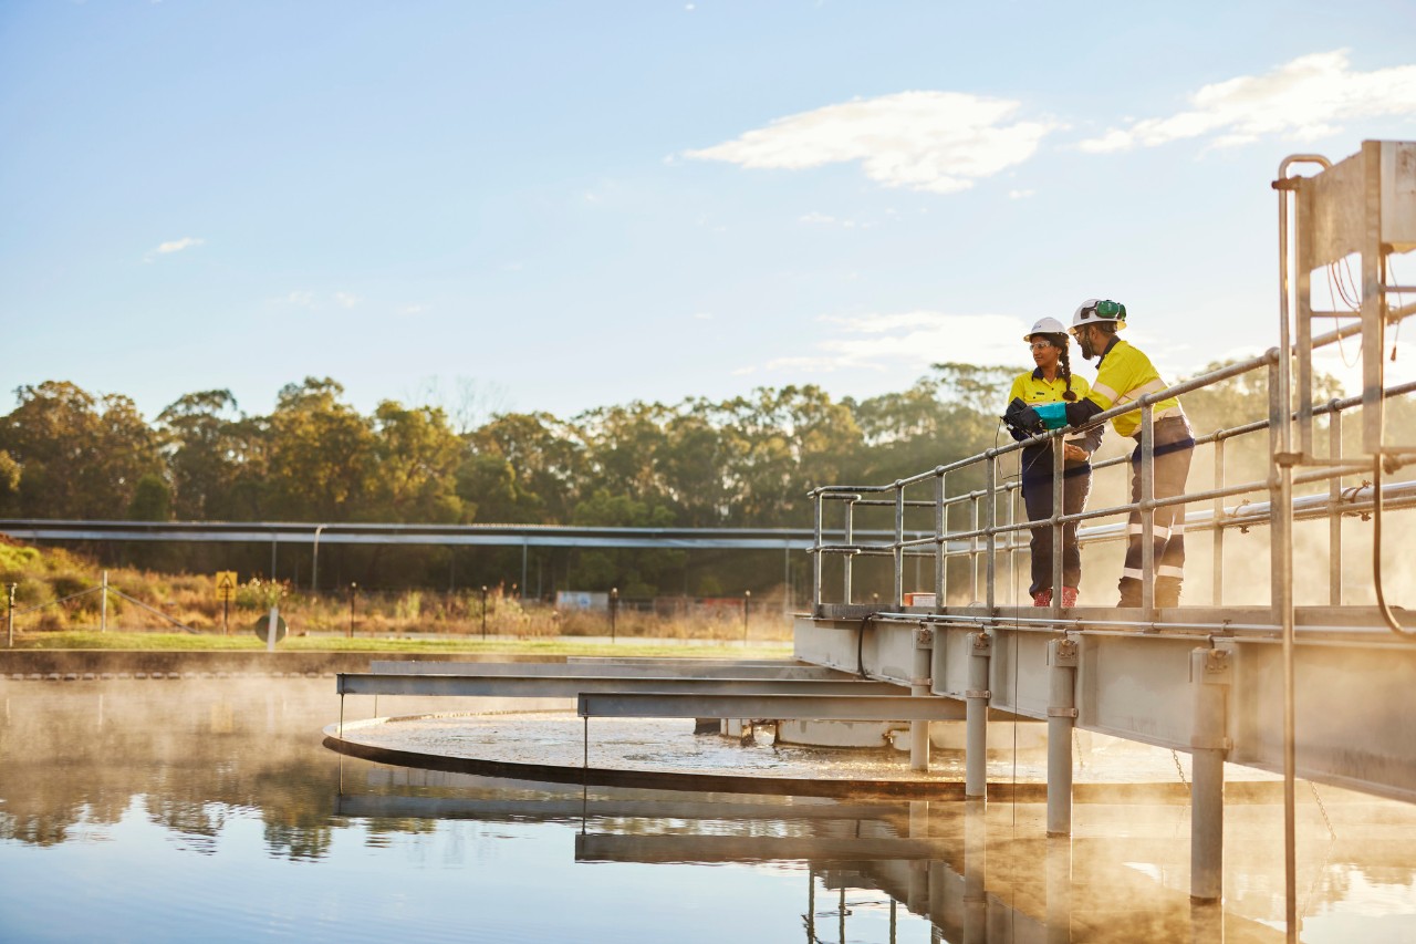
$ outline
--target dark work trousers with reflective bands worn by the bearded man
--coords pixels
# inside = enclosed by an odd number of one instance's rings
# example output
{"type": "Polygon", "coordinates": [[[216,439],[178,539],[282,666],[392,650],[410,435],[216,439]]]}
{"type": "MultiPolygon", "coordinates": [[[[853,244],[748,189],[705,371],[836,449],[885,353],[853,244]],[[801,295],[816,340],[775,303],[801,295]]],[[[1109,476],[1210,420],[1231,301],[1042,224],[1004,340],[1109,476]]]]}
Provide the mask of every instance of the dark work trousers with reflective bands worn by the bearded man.
{"type": "MultiPolygon", "coordinates": [[[[1136,434],[1137,439],[1140,434],[1136,434]]],[[[1195,456],[1195,437],[1184,417],[1155,421],[1155,489],[1157,499],[1184,493],[1189,478],[1189,462],[1195,456]]],[[[1131,452],[1131,500],[1141,500],[1141,446],[1131,452]]],[[[1121,592],[1140,592],[1141,575],[1141,513],[1131,512],[1126,534],[1126,567],[1121,570],[1121,592]]],[[[1155,509],[1153,519],[1155,539],[1155,575],[1181,580],[1185,575],[1185,506],[1167,505],[1155,509]]]]}

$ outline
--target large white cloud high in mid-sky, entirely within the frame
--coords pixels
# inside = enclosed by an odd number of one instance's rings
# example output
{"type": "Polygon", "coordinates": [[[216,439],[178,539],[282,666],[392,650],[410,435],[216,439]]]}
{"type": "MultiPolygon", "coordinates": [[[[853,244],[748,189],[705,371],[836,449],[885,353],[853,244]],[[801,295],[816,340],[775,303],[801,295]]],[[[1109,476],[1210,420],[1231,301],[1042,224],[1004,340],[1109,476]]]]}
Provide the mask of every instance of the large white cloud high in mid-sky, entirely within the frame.
{"type": "Polygon", "coordinates": [[[1025,162],[1058,128],[1014,120],[1018,108],[963,92],[898,92],[779,118],[684,156],[786,170],[860,162],[867,177],[886,187],[954,193],[1025,162]]]}

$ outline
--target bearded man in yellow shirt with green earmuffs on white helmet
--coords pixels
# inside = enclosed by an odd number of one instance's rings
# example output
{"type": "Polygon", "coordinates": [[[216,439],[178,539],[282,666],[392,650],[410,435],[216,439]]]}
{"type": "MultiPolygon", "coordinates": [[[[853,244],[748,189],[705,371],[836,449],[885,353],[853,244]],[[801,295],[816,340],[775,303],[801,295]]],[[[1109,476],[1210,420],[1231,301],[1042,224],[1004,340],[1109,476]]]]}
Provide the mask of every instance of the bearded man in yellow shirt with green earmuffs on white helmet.
{"type": "MultiPolygon", "coordinates": [[[[1072,315],[1072,336],[1082,349],[1082,357],[1097,359],[1096,381],[1090,393],[1066,405],[1066,420],[1073,427],[1085,425],[1096,414],[1146,394],[1164,390],[1167,384],[1150,357],[1126,343],[1117,332],[1126,327],[1126,306],[1110,299],[1090,298],[1072,315]]],[[[1184,493],[1189,476],[1189,462],[1195,454],[1195,438],[1177,397],[1153,404],[1155,418],[1155,485],[1157,499],[1184,493]]],[[[1112,418],[1112,425],[1123,437],[1136,439],[1131,452],[1131,500],[1141,498],[1141,414],[1138,410],[1112,418]]],[[[1141,605],[1141,515],[1131,512],[1127,527],[1126,567],[1121,571],[1120,607],[1141,605]]],[[[1178,607],[1180,585],[1185,575],[1185,512],[1180,505],[1157,507],[1153,516],[1155,539],[1155,605],[1178,607]]]]}

